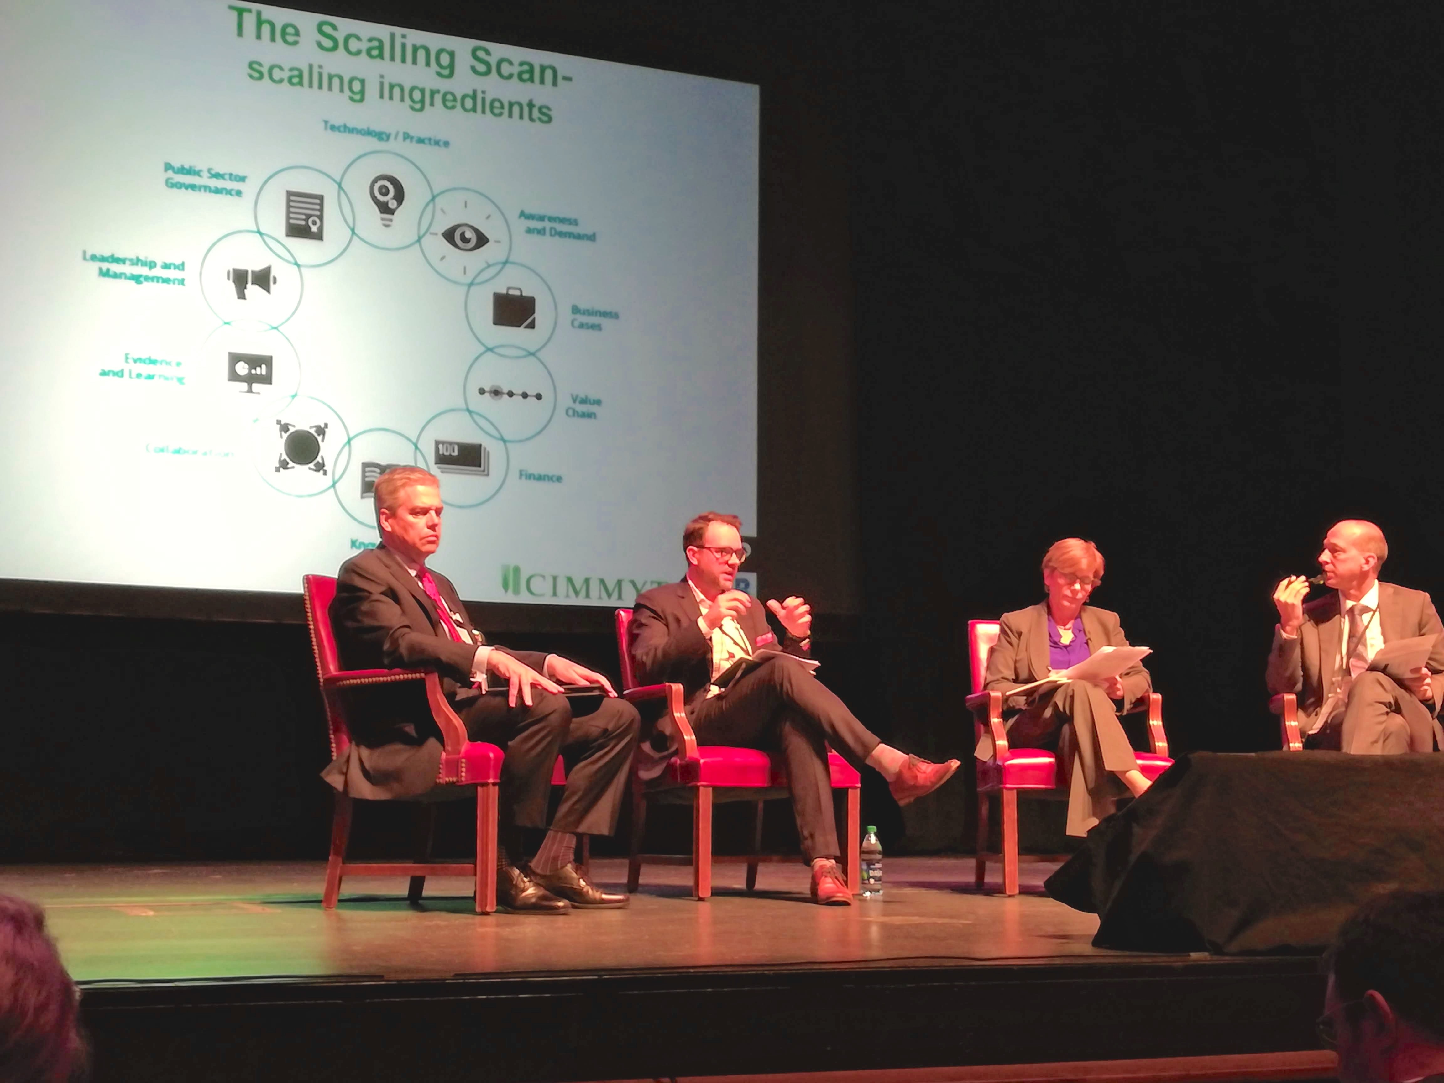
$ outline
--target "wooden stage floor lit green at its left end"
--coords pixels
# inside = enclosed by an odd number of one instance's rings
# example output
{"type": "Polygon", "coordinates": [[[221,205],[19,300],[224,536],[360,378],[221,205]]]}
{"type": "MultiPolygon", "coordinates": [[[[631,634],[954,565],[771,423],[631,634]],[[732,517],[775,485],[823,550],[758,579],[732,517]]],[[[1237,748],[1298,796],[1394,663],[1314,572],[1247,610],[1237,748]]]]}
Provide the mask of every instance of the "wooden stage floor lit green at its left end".
{"type": "MultiPolygon", "coordinates": [[[[1053,866],[1022,868],[1032,894],[1005,898],[972,890],[970,861],[888,858],[881,900],[817,907],[800,864],[762,865],[751,897],[742,866],[719,866],[709,902],[686,869],[647,866],[627,910],[563,917],[479,917],[455,878],[427,879],[419,907],[404,879],[351,878],[326,913],[319,862],[29,866],[4,884],[46,907],[82,983],[1136,959],[1090,947],[1097,918],[1041,894],[1053,866]]],[[[593,872],[618,890],[627,875],[617,859],[593,872]]]]}

